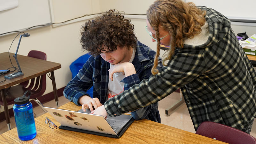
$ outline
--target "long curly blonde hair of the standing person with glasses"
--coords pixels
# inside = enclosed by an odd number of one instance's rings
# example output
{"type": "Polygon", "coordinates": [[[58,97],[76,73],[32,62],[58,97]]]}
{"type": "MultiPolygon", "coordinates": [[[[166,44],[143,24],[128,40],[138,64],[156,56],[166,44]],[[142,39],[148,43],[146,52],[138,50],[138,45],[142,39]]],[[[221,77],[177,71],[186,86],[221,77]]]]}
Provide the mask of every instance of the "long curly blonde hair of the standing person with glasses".
{"type": "Polygon", "coordinates": [[[151,70],[153,75],[158,73],[156,68],[160,52],[158,27],[161,26],[171,36],[170,50],[163,57],[163,65],[166,66],[165,61],[171,60],[175,47],[183,48],[185,39],[193,38],[201,32],[201,27],[205,23],[205,13],[194,3],[185,3],[181,0],[157,0],[151,4],[147,11],[147,19],[150,26],[156,31],[157,40],[156,57],[151,70]]]}

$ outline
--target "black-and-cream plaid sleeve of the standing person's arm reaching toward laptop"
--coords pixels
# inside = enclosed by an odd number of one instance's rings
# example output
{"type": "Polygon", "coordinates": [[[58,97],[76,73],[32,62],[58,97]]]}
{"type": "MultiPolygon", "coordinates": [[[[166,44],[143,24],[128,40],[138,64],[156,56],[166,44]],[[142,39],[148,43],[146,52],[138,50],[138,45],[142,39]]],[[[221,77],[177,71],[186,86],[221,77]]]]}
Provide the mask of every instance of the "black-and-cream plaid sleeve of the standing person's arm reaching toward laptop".
{"type": "Polygon", "coordinates": [[[169,66],[163,67],[156,76],[150,76],[149,79],[142,80],[140,84],[135,84],[129,90],[106,101],[104,106],[108,114],[119,116],[148,106],[164,99],[181,86],[190,83],[204,73],[205,62],[203,57],[186,53],[182,53],[182,55],[185,58],[188,57],[186,65],[181,65],[184,60],[183,57],[177,59],[174,57],[173,60],[168,62],[169,66]],[[189,66],[195,65],[195,63],[197,65],[191,69],[189,66]]]}

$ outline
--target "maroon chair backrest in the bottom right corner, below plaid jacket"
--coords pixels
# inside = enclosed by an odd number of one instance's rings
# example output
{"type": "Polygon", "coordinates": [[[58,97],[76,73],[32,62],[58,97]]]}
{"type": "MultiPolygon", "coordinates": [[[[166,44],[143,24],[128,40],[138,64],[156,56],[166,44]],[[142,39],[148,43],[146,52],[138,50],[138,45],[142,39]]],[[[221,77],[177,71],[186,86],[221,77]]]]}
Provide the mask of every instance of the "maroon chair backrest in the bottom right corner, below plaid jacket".
{"type": "Polygon", "coordinates": [[[212,139],[215,138],[216,140],[230,144],[256,144],[256,139],[250,134],[230,126],[214,122],[203,122],[199,125],[196,134],[212,139]]]}

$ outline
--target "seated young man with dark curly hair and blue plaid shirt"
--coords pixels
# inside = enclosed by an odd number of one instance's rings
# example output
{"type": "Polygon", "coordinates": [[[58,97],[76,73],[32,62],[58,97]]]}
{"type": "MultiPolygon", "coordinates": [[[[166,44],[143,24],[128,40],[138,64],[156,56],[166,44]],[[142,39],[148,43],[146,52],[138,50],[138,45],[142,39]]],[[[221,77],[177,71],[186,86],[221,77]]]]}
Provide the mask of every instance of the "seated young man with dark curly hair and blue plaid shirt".
{"type": "MultiPolygon", "coordinates": [[[[161,58],[140,43],[130,20],[115,10],[109,10],[92,21],[85,22],[80,43],[91,53],[79,73],[67,84],[64,96],[85,111],[102,106],[106,100],[148,79],[154,59],[161,69],[161,58]],[[86,93],[93,85],[93,98],[86,93]]],[[[132,104],[132,103],[131,103],[132,104]]],[[[135,120],[149,119],[161,123],[158,103],[131,112],[135,120]]]]}

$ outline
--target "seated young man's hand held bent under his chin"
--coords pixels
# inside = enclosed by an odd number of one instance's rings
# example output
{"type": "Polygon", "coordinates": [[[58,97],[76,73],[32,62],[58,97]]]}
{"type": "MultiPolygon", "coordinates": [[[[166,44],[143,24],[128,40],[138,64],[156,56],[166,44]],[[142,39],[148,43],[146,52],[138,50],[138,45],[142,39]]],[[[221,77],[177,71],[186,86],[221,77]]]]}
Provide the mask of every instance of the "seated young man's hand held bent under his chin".
{"type": "Polygon", "coordinates": [[[125,77],[136,74],[136,70],[135,70],[133,64],[130,62],[123,62],[123,63],[115,64],[108,71],[109,71],[109,79],[111,79],[111,81],[113,81],[114,73],[123,72],[125,77]]]}

